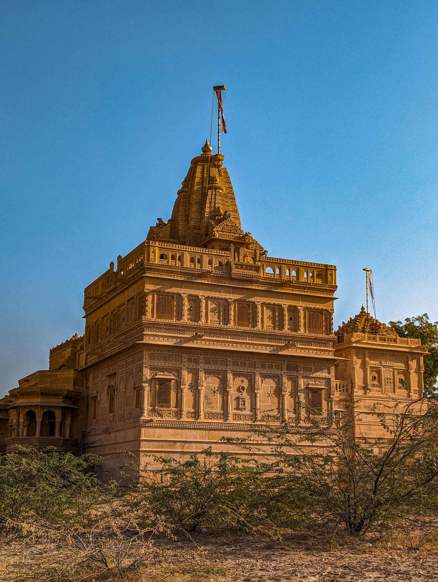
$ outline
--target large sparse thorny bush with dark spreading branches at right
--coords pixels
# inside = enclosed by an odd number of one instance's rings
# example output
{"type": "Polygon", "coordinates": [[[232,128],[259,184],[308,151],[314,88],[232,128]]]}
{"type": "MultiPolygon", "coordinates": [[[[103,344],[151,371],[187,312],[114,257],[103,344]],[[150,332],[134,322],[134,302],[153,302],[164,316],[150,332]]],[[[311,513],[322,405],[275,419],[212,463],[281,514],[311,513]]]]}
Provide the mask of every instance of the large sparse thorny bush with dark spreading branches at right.
{"type": "Polygon", "coordinates": [[[311,529],[354,536],[407,531],[426,513],[425,527],[433,521],[436,531],[438,410],[428,399],[398,410],[398,403],[377,403],[373,410],[385,438],[358,435],[354,411],[310,419],[302,431],[284,421],[256,435],[272,443],[295,518],[311,529]]]}

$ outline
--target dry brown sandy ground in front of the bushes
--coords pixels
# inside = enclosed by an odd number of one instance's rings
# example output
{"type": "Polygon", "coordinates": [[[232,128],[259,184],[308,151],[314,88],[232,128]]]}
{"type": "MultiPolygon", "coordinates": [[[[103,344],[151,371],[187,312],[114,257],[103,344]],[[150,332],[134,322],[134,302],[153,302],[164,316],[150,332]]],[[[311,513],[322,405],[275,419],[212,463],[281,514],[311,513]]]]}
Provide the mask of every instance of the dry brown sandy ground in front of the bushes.
{"type": "MultiPolygon", "coordinates": [[[[133,582],[421,582],[438,580],[438,550],[387,548],[367,541],[332,544],[321,538],[283,538],[261,535],[197,534],[193,540],[159,539],[166,560],[133,582]],[[348,545],[350,544],[350,545],[348,545]],[[332,549],[330,549],[332,545],[332,549]],[[187,563],[191,566],[187,567],[187,563]],[[181,564],[183,565],[181,568],[181,564]]],[[[383,545],[383,544],[382,544],[383,545]]],[[[54,563],[65,549],[42,540],[0,548],[0,582],[45,579],[40,564],[54,563]],[[12,560],[12,561],[11,561],[12,560]]],[[[88,577],[87,582],[91,577],[88,577]]],[[[97,576],[97,581],[99,582],[97,576]]],[[[105,579],[106,580],[106,579],[105,579]]],[[[115,579],[114,579],[115,580],[115,579]]]]}

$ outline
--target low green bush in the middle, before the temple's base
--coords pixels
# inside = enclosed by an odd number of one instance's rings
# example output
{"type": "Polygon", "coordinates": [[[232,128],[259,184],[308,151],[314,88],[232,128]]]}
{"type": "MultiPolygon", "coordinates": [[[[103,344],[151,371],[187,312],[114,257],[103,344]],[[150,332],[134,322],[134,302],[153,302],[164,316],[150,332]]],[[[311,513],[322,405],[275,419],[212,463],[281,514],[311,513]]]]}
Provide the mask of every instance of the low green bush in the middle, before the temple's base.
{"type": "Polygon", "coordinates": [[[140,525],[165,523],[182,531],[200,526],[250,531],[270,523],[279,494],[266,466],[231,453],[154,457],[159,469],[140,469],[138,485],[123,500],[140,525]]]}

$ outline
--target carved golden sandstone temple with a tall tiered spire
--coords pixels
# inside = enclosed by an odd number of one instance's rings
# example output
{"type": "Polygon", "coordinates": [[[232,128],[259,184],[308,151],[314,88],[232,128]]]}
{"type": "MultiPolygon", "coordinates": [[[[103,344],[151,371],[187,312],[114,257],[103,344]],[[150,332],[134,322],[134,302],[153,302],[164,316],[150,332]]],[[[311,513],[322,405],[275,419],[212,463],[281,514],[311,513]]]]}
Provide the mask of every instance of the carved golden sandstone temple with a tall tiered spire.
{"type": "Polygon", "coordinates": [[[336,267],[269,257],[241,227],[222,154],[192,159],[167,222],[84,291],[85,331],[0,400],[0,451],[118,464],[230,445],[254,423],[422,395],[425,347],[365,312],[333,331],[336,267]]]}

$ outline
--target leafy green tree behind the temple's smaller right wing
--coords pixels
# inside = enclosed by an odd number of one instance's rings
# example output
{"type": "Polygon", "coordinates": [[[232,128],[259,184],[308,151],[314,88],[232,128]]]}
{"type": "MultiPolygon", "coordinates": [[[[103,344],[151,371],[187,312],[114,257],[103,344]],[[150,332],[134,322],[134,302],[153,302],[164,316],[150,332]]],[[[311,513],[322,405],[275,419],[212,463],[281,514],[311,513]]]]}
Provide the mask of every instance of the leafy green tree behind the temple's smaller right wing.
{"type": "Polygon", "coordinates": [[[407,317],[402,321],[390,321],[389,325],[401,338],[417,338],[427,346],[428,356],[424,357],[424,395],[432,396],[437,392],[438,377],[438,321],[429,321],[429,315],[407,317]]]}

